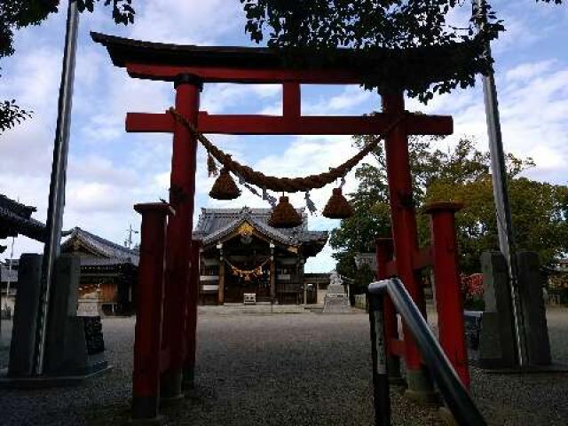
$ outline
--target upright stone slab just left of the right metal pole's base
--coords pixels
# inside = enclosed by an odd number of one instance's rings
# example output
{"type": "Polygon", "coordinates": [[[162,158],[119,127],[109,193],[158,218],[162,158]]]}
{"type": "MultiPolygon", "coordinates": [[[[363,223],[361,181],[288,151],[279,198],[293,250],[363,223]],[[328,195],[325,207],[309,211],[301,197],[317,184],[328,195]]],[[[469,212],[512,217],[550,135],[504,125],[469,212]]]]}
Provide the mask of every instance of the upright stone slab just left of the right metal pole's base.
{"type": "Polygon", "coordinates": [[[481,255],[485,312],[479,333],[479,363],[485,368],[515,367],[515,327],[509,269],[500,251],[481,255]]]}

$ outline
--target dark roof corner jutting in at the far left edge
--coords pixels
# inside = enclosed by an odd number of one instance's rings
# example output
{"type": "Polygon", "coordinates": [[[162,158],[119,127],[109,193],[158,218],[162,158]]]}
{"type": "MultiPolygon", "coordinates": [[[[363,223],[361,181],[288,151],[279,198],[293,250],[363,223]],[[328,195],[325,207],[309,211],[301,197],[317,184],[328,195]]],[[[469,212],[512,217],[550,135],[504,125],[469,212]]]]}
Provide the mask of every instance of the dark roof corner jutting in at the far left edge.
{"type": "Polygon", "coordinates": [[[35,207],[0,194],[0,239],[20,233],[36,241],[45,241],[45,225],[31,217],[35,211],[35,207]]]}

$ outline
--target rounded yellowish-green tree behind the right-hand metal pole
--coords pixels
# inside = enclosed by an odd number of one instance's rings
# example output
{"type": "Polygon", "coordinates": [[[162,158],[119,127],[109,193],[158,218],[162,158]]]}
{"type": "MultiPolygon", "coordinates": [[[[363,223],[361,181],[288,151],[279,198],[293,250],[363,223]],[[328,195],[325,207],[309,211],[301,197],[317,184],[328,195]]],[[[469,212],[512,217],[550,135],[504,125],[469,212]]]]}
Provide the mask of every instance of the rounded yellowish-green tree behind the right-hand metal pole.
{"type": "MultiPolygon", "coordinates": [[[[478,272],[481,253],[499,247],[491,176],[461,185],[438,182],[430,186],[427,199],[463,202],[464,208],[456,215],[461,268],[478,272]]],[[[568,252],[568,186],[509,177],[509,201],[514,247],[539,253],[545,266],[556,264],[568,252]]]]}

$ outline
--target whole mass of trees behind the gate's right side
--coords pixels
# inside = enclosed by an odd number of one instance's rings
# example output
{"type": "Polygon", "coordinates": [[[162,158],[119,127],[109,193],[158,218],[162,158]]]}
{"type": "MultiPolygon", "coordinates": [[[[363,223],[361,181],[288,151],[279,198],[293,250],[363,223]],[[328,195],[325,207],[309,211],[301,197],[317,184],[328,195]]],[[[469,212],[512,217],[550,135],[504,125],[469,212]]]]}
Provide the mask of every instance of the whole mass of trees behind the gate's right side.
{"type": "MultiPolygon", "coordinates": [[[[367,137],[355,143],[366,143],[367,137]]],[[[456,215],[463,272],[479,272],[479,256],[488,249],[498,249],[497,221],[489,154],[477,150],[475,143],[462,138],[451,150],[429,149],[428,140],[410,141],[414,201],[418,207],[418,231],[421,244],[430,240],[428,217],[422,206],[430,201],[459,201],[464,208],[456,215]]],[[[343,220],[331,234],[335,258],[343,274],[354,274],[350,259],[358,252],[375,249],[375,238],[390,235],[389,194],[383,146],[375,150],[378,167],[363,164],[356,171],[359,187],[349,196],[355,214],[343,220]]],[[[540,255],[542,264],[554,264],[568,252],[568,186],[537,182],[521,173],[533,167],[530,158],[507,155],[509,199],[517,249],[530,249],[540,255]]]]}

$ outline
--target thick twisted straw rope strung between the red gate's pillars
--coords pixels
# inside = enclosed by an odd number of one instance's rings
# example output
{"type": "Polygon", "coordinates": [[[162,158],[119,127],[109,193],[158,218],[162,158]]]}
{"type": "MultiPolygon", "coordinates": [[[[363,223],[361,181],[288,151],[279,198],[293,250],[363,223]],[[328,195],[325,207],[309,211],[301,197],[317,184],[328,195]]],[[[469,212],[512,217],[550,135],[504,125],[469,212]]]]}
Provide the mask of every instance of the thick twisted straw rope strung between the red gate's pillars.
{"type": "Polygon", "coordinates": [[[392,130],[394,130],[398,124],[403,122],[409,114],[406,113],[398,116],[398,118],[387,126],[386,130],[384,130],[381,135],[361,149],[359,153],[353,155],[349,160],[333,169],[330,169],[329,171],[307,177],[274,177],[266,176],[260,171],[252,170],[250,167],[242,165],[240,162],[235,162],[231,158],[231,155],[225,154],[223,150],[213,145],[208,138],[197,130],[191,122],[187,121],[183,115],[179,114],[174,107],[170,107],[169,111],[177,122],[180,122],[185,126],[185,128],[192,131],[208,153],[215,157],[217,162],[223,164],[227,170],[232,171],[235,175],[248,182],[248,184],[256,185],[264,190],[270,189],[277,193],[308,192],[312,189],[322,188],[325,185],[331,184],[338,178],[345,177],[345,175],[349,173],[353,167],[367,156],[367,154],[373,151],[379,142],[392,130]]]}

